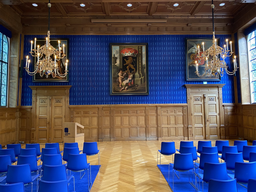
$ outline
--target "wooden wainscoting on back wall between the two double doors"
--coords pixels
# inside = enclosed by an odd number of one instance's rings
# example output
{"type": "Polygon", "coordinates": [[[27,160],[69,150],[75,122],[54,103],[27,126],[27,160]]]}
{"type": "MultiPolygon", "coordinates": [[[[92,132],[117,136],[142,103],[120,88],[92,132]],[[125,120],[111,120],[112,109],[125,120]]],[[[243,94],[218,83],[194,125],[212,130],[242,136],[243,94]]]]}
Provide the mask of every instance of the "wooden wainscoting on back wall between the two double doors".
{"type": "Polygon", "coordinates": [[[187,104],[72,105],[85,141],[187,140],[187,104]]]}

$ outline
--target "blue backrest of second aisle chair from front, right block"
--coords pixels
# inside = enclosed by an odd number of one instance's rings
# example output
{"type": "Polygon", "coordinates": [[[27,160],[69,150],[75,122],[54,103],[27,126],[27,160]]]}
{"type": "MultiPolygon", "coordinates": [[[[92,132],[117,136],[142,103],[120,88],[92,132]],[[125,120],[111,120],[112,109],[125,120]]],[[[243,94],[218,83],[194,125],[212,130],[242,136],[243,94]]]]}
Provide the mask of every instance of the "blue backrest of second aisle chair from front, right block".
{"type": "Polygon", "coordinates": [[[173,168],[175,170],[187,171],[194,168],[192,153],[174,154],[173,168]]]}

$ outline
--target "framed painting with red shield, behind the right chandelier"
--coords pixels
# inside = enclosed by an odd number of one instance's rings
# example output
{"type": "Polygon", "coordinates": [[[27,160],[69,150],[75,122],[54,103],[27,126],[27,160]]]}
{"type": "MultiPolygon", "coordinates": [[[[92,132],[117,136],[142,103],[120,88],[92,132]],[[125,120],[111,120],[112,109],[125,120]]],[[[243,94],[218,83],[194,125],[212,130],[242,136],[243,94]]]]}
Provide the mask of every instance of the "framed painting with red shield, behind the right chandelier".
{"type": "MultiPolygon", "coordinates": [[[[219,39],[217,39],[217,45],[219,39]]],[[[198,72],[200,75],[205,73],[205,64],[206,61],[200,59],[198,56],[203,53],[202,49],[202,42],[204,42],[204,49],[207,50],[209,47],[212,46],[212,39],[211,38],[201,38],[201,39],[193,39],[193,38],[186,38],[186,80],[187,81],[220,81],[220,75],[216,78],[214,75],[208,77],[205,75],[204,77],[198,77],[196,72],[196,65],[195,61],[198,63],[198,72]],[[198,52],[198,45],[199,45],[199,52],[198,52]]],[[[208,58],[211,60],[211,57],[208,58]]]]}

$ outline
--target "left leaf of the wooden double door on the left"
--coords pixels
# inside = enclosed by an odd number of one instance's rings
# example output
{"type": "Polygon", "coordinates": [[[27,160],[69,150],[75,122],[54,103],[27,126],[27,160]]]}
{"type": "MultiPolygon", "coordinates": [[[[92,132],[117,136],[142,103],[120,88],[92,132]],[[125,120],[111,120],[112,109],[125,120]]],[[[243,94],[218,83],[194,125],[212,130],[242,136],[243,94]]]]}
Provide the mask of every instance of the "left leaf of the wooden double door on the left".
{"type": "Polygon", "coordinates": [[[38,96],[36,106],[36,143],[48,143],[50,126],[50,97],[38,96]]]}

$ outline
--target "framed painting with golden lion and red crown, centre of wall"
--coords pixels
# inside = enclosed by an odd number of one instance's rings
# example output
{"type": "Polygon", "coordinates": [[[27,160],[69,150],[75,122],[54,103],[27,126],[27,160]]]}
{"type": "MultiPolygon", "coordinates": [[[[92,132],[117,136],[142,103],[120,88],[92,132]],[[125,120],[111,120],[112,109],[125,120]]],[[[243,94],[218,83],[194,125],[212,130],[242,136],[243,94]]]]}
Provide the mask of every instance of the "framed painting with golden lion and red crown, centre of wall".
{"type": "Polygon", "coordinates": [[[147,43],[110,43],[110,94],[148,95],[147,43]]]}

